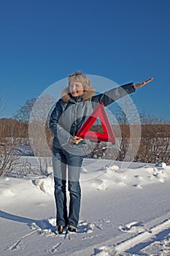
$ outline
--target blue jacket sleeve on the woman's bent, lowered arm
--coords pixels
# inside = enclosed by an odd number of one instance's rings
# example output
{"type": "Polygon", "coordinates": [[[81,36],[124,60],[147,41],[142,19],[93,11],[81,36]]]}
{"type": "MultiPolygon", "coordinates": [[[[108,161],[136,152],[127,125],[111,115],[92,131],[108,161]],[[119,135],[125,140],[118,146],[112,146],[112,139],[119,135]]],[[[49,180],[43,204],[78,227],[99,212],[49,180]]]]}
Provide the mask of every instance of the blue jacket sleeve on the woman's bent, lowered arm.
{"type": "Polygon", "coordinates": [[[58,124],[58,121],[62,115],[63,111],[61,109],[61,104],[59,102],[56,103],[55,108],[50,116],[49,121],[49,127],[50,130],[53,132],[53,135],[58,138],[60,144],[63,143],[69,143],[70,135],[69,132],[66,131],[66,129],[63,129],[60,124],[58,124]]]}

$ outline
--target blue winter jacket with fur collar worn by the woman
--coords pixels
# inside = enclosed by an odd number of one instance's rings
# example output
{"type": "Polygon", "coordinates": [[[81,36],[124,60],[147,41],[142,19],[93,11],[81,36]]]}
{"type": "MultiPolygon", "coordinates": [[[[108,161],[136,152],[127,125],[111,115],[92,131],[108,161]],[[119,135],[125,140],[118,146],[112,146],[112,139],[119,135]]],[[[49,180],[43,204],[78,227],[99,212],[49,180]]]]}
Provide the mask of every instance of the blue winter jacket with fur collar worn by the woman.
{"type": "MultiPolygon", "coordinates": [[[[69,142],[70,138],[77,134],[77,131],[93,112],[98,102],[103,102],[104,106],[107,106],[117,99],[133,93],[135,91],[133,85],[134,83],[128,83],[98,95],[94,95],[92,89],[91,91],[85,91],[79,97],[72,97],[68,88],[65,93],[63,91],[63,97],[56,103],[49,121],[50,129],[54,135],[53,150],[63,146],[65,148],[66,146],[70,147],[73,144],[69,142]]],[[[86,143],[87,140],[82,140],[74,146],[76,148],[82,147],[86,143]]]]}

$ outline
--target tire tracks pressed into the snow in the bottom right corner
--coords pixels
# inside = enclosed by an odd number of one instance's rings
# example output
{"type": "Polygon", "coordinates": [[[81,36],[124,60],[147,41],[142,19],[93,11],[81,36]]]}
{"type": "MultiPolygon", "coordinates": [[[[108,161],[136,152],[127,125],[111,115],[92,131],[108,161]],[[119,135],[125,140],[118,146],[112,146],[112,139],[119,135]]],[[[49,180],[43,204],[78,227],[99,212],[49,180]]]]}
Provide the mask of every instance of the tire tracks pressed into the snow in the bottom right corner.
{"type": "MultiPolygon", "coordinates": [[[[139,250],[144,249],[145,246],[153,244],[155,241],[160,241],[163,237],[170,234],[170,218],[164,220],[158,225],[154,227],[150,227],[141,233],[137,233],[132,238],[127,238],[120,243],[115,245],[115,239],[109,238],[106,241],[102,241],[100,244],[93,244],[85,249],[81,249],[74,253],[69,253],[69,256],[89,256],[89,255],[98,255],[98,253],[107,252],[107,255],[121,255],[121,253],[127,253],[127,255],[139,252],[139,250]],[[157,236],[157,240],[152,239],[157,236]],[[109,253],[109,254],[108,254],[109,253]],[[129,253],[129,254],[128,254],[129,253]]],[[[117,238],[121,238],[121,236],[117,236],[117,238]]],[[[117,239],[116,239],[117,240],[117,239]]],[[[169,243],[170,238],[167,239],[166,243],[169,243]]],[[[170,254],[169,254],[170,255],[170,254]]]]}

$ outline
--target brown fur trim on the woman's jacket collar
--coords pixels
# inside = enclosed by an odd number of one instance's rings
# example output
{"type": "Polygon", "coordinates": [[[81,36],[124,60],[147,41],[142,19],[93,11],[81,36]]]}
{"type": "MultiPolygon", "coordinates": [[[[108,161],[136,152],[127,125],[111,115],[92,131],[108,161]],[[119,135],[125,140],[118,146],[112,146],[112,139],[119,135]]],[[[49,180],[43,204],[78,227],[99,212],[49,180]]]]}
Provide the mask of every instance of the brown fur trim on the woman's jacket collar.
{"type": "MultiPolygon", "coordinates": [[[[93,97],[93,95],[95,94],[95,91],[96,90],[93,87],[90,87],[89,90],[85,90],[84,94],[82,94],[82,100],[85,101],[93,97]]],[[[70,98],[71,97],[70,97],[69,87],[66,87],[61,92],[61,99],[63,99],[63,102],[69,103],[70,98]]]]}

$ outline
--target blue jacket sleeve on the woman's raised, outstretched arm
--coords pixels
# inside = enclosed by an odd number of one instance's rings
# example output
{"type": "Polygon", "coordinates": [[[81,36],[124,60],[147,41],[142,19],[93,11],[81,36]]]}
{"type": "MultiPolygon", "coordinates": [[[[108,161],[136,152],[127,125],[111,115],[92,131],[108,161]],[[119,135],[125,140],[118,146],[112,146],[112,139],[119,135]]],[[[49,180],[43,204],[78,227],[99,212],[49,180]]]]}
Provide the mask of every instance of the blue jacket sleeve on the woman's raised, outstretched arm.
{"type": "Polygon", "coordinates": [[[104,106],[115,102],[117,99],[123,98],[128,94],[135,91],[134,83],[127,83],[124,86],[119,86],[117,88],[111,89],[104,92],[104,94],[98,94],[92,97],[92,102],[103,102],[104,106]]]}

